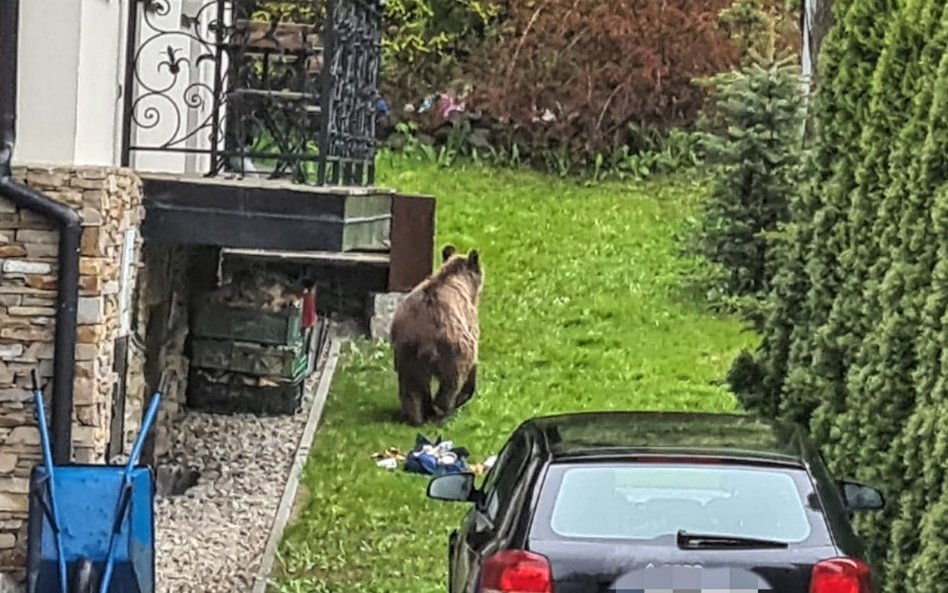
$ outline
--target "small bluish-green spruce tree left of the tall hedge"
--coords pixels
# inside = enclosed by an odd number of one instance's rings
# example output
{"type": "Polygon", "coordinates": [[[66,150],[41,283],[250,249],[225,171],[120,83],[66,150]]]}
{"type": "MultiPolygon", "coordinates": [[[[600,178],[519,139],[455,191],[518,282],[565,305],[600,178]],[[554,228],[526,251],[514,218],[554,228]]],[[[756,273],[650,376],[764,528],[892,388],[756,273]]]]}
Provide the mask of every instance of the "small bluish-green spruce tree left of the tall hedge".
{"type": "Polygon", "coordinates": [[[701,81],[710,89],[700,123],[715,178],[698,250],[726,273],[731,296],[756,301],[770,286],[767,234],[787,220],[799,183],[802,80],[795,57],[778,55],[762,0],[737,0],[722,21],[743,65],[701,81]]]}

